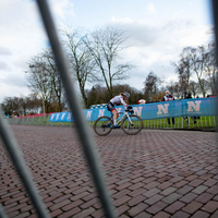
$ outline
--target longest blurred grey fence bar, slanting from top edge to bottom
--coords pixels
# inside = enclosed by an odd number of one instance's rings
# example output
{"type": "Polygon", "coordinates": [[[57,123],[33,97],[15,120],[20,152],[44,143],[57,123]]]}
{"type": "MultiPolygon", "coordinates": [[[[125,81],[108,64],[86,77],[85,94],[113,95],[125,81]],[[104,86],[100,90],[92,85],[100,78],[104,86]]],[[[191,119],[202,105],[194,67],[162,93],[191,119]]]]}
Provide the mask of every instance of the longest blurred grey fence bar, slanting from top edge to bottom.
{"type": "Polygon", "coordinates": [[[93,174],[94,182],[96,184],[102,208],[105,210],[106,217],[117,217],[114,208],[111,204],[106,184],[104,181],[102,172],[98,162],[98,156],[94,147],[94,140],[90,137],[88,128],[86,126],[85,120],[83,118],[82,109],[80,107],[80,101],[77,95],[74,90],[73,83],[71,82],[70,71],[68,69],[63,51],[58,39],[55,23],[51,17],[51,13],[46,0],[37,0],[39,11],[41,13],[44,24],[53,50],[56,63],[60,73],[60,77],[65,89],[69,105],[72,110],[73,118],[75,120],[76,130],[82,142],[83,150],[88,162],[88,167],[93,174]]]}

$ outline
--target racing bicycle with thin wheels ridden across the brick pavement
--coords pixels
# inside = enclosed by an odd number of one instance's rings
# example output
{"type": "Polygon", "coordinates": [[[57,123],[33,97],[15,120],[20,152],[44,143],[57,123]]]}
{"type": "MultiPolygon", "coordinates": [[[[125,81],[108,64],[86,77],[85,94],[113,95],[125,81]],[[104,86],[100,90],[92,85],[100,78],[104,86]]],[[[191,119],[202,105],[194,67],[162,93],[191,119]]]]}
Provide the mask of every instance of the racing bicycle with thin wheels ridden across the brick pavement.
{"type": "MultiPolygon", "coordinates": [[[[133,114],[133,112],[134,111],[132,107],[129,106],[128,110],[125,110],[122,118],[118,121],[118,125],[121,124],[120,126],[122,131],[128,135],[136,135],[143,129],[142,119],[138,116],[133,114]]],[[[114,129],[112,113],[111,118],[104,116],[98,118],[94,123],[94,131],[100,136],[108,135],[112,131],[112,129],[114,129]]]]}

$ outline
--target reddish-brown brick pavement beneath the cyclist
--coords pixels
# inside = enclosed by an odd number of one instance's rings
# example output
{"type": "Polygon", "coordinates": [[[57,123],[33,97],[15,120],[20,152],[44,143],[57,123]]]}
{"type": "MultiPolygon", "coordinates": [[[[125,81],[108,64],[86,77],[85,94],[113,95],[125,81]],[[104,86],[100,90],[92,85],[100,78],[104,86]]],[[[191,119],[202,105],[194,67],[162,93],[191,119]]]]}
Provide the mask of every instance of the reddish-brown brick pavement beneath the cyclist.
{"type": "MultiPolygon", "coordinates": [[[[12,129],[51,217],[104,217],[74,130],[12,129]]],[[[218,217],[216,133],[93,135],[119,217],[218,217]]],[[[8,217],[37,217],[2,143],[0,181],[8,217]]]]}

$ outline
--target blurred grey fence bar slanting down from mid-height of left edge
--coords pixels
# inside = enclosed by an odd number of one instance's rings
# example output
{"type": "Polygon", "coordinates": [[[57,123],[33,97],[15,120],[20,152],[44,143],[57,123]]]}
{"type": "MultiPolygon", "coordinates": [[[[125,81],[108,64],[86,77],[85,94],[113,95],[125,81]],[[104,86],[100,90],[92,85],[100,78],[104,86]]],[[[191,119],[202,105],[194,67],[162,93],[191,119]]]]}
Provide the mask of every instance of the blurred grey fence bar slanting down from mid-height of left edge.
{"type": "Polygon", "coordinates": [[[26,192],[28,193],[29,198],[32,199],[33,205],[35,206],[35,209],[38,213],[39,217],[49,217],[47,209],[43,203],[43,199],[39,195],[39,192],[32,179],[31,172],[27,166],[25,165],[25,160],[22,156],[21,150],[19,149],[17,143],[12,134],[12,131],[10,130],[9,124],[2,118],[1,114],[2,112],[0,109],[0,135],[3,140],[5,148],[8,149],[9,155],[11,156],[11,159],[14,162],[14,166],[21,177],[21,180],[24,183],[26,192]]]}

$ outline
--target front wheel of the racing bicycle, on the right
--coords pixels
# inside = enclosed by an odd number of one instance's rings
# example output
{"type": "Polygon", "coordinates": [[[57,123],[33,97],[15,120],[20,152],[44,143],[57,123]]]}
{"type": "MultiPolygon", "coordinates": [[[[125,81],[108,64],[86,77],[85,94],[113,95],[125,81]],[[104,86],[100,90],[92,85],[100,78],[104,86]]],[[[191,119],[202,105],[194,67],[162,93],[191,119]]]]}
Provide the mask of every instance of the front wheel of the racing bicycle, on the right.
{"type": "Polygon", "coordinates": [[[122,130],[128,135],[136,135],[143,129],[143,121],[138,116],[131,114],[125,117],[122,122],[122,130]]]}

